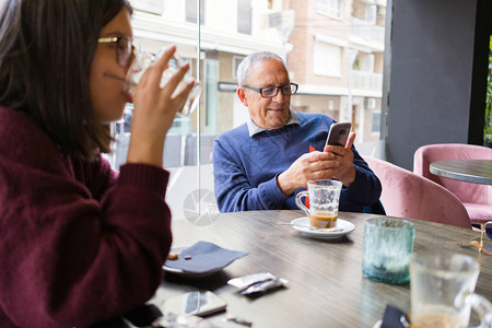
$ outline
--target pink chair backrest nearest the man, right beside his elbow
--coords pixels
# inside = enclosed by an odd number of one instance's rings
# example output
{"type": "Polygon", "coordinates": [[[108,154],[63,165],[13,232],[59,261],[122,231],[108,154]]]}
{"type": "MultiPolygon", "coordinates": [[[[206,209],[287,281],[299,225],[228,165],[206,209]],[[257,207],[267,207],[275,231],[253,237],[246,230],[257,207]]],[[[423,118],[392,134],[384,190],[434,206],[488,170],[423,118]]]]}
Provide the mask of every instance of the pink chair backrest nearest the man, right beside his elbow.
{"type": "Polygon", "coordinates": [[[380,200],[388,215],[471,229],[467,210],[449,190],[389,162],[363,157],[383,185],[380,200]]]}

